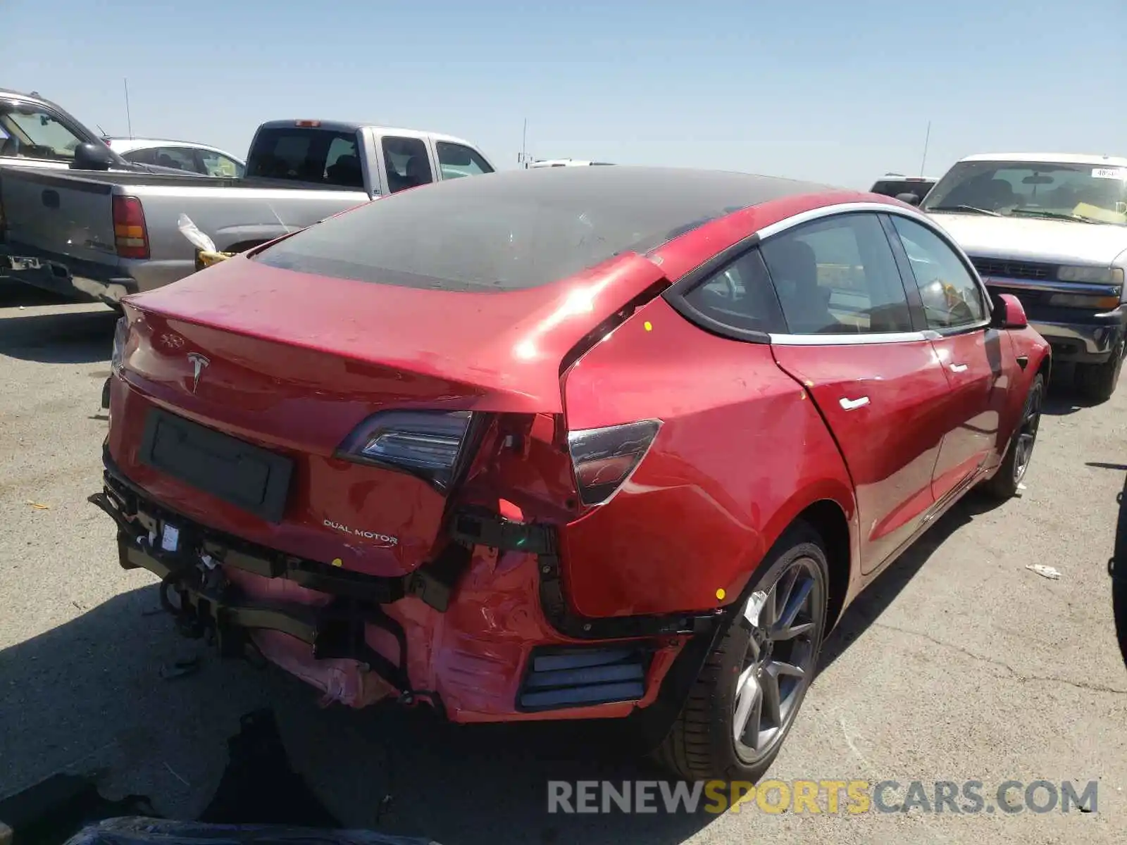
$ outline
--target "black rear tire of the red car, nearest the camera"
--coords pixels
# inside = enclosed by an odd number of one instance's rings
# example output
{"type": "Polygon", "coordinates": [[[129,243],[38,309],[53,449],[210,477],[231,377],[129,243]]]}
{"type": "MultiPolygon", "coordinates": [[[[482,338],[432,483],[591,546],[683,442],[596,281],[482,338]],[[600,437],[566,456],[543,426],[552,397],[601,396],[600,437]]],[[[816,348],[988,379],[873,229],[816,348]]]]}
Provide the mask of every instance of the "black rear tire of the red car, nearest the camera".
{"type": "MultiPolygon", "coordinates": [[[[796,523],[775,543],[753,576],[739,610],[736,611],[739,615],[733,620],[719,646],[708,656],[681,714],[663,744],[654,751],[653,756],[659,765],[691,781],[755,782],[763,776],[778,756],[814,678],[825,634],[828,585],[824,541],[809,525],[796,523]],[[808,668],[805,676],[795,682],[797,688],[793,688],[792,696],[787,695],[792,703],[789,704],[788,717],[775,731],[770,747],[763,749],[762,756],[749,757],[747,746],[740,745],[740,750],[735,739],[738,678],[744,671],[753,639],[744,608],[753,596],[761,594],[761,590],[770,590],[780,582],[781,577],[799,568],[804,573],[809,573],[813,582],[809,610],[801,616],[809,616],[814,623],[808,643],[809,653],[806,653],[807,643],[802,643],[804,660],[808,662],[808,668]]],[[[796,643],[798,639],[796,638],[796,643]]]]}

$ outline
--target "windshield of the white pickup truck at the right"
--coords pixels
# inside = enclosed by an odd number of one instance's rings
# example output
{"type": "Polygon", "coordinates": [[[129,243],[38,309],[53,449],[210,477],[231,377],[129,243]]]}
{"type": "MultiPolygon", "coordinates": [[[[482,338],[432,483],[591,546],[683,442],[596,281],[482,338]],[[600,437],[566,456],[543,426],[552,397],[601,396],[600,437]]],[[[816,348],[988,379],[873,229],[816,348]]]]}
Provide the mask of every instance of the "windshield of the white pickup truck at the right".
{"type": "Polygon", "coordinates": [[[1127,168],[964,161],[939,180],[922,207],[1127,225],[1127,168]]]}

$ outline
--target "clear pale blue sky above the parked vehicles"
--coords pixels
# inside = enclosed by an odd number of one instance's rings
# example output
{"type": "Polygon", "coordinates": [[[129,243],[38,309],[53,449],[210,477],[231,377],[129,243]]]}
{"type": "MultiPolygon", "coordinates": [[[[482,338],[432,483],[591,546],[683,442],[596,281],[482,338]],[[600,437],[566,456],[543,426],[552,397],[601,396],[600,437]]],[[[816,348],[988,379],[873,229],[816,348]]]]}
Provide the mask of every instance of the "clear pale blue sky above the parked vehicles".
{"type": "Polygon", "coordinates": [[[245,154],[370,121],[529,151],[867,187],[973,152],[1127,154],[1127,0],[0,0],[0,86],[245,154]]]}

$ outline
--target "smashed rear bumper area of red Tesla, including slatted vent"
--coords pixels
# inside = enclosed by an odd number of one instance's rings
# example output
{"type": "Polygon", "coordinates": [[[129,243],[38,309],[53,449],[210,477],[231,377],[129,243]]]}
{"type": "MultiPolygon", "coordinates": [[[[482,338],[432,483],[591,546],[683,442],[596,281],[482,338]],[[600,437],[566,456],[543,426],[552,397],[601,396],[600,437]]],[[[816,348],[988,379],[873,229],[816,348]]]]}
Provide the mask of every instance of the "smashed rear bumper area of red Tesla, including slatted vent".
{"type": "Polygon", "coordinates": [[[402,577],[299,559],[171,513],[105,462],[90,500],[117,523],[121,564],[161,579],[183,633],[224,656],[258,652],[350,706],[425,702],[455,722],[629,718],[659,740],[722,628],[720,615],[545,613],[562,602],[558,560],[472,519],[402,577]]]}

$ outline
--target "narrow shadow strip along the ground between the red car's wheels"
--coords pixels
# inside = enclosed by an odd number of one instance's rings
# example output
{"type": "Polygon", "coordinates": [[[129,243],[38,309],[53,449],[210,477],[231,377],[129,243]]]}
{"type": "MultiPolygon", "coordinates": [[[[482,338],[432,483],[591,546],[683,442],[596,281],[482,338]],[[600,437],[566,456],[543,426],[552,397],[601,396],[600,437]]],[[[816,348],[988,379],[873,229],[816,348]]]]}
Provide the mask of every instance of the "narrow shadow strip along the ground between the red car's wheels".
{"type": "Polygon", "coordinates": [[[971,491],[943,514],[931,528],[916,540],[888,569],[877,576],[853,603],[845,608],[837,628],[822,647],[818,671],[833,665],[864,631],[876,622],[931,555],[948,537],[979,514],[999,507],[1002,502],[971,491]]]}

